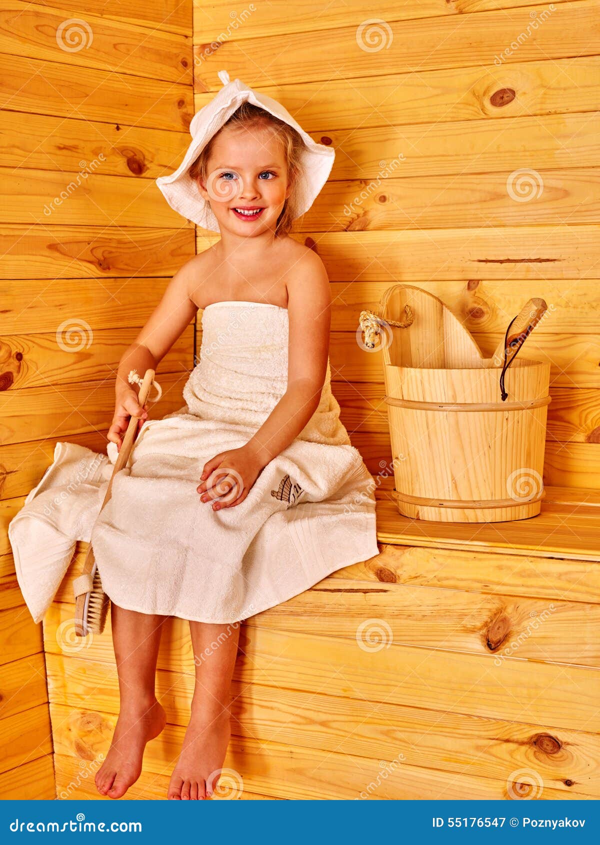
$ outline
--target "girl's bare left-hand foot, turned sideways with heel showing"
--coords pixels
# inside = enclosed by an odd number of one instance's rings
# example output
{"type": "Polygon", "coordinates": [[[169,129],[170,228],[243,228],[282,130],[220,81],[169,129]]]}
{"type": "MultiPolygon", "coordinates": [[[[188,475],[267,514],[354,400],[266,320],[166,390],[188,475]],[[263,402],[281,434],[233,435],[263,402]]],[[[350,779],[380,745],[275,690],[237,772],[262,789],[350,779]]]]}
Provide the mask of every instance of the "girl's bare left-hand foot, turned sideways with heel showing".
{"type": "Polygon", "coordinates": [[[146,743],[161,733],[165,723],[165,711],[158,701],[150,707],[122,708],[106,760],[95,775],[95,786],[101,795],[121,798],[137,781],[146,743]]]}

